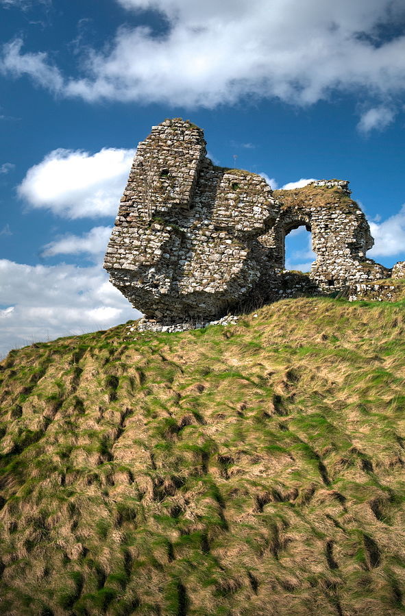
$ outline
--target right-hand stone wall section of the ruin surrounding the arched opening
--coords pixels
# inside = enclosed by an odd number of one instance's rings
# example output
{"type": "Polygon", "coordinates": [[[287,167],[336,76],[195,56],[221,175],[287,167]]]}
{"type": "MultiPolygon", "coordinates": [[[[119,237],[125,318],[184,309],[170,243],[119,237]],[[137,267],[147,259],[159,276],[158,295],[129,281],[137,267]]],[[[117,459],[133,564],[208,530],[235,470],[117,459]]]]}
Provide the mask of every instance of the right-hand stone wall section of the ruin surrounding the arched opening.
{"type": "Polygon", "coordinates": [[[312,232],[312,250],[317,255],[310,278],[323,291],[387,278],[390,273],[365,256],[374,241],[365,215],[350,198],[348,185],[319,180],[296,190],[276,190],[280,215],[267,236],[260,238],[273,260],[284,267],[284,238],[305,225],[312,232]]]}

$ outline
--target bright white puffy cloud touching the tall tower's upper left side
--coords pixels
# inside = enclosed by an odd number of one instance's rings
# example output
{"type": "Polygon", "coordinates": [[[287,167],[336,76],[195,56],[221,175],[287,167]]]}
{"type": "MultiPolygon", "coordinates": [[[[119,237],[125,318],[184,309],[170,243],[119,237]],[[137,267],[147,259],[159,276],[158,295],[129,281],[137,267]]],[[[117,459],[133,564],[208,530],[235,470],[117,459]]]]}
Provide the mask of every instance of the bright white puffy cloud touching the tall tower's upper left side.
{"type": "Polygon", "coordinates": [[[114,215],[133,158],[132,149],[53,150],[29,169],[19,196],[70,219],[114,215]]]}

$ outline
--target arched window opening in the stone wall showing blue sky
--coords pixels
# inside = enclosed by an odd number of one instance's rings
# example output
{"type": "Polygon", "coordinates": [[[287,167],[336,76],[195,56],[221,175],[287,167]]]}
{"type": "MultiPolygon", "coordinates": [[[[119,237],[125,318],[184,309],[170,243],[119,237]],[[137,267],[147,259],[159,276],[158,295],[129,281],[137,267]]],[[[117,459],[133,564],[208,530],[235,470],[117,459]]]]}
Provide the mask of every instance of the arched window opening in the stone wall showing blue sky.
{"type": "Polygon", "coordinates": [[[317,255],[312,251],[312,233],[307,223],[297,221],[286,227],[284,234],[284,269],[310,271],[317,255]]]}

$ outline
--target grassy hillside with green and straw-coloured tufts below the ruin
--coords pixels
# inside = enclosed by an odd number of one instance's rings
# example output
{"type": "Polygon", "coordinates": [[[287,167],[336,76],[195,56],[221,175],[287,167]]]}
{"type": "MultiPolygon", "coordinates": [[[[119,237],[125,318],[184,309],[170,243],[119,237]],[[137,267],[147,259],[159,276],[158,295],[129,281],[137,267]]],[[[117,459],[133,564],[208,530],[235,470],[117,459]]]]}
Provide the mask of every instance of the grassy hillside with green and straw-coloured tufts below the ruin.
{"type": "Polygon", "coordinates": [[[400,615],[404,303],[0,364],[0,613],[400,615]]]}

